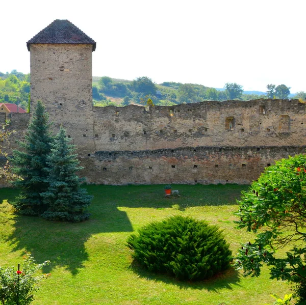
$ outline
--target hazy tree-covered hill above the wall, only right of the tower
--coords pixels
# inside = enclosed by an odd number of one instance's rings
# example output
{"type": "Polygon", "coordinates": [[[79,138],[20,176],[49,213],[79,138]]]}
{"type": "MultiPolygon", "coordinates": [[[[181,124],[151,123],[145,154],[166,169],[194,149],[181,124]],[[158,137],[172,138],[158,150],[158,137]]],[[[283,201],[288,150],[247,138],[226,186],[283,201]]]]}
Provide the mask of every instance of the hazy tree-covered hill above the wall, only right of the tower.
{"type": "MultiPolygon", "coordinates": [[[[224,90],[217,90],[203,85],[182,84],[180,82],[166,81],[155,84],[146,76],[138,77],[133,81],[117,80],[103,76],[93,85],[93,99],[97,105],[118,105],[109,97],[122,99],[122,106],[144,104],[150,99],[155,105],[171,106],[181,103],[196,103],[201,101],[225,100],[252,100],[259,98],[288,99],[290,87],[286,85],[267,85],[265,94],[245,94],[243,86],[227,82],[224,90]]],[[[294,98],[306,99],[306,92],[298,92],[294,98]]]]}

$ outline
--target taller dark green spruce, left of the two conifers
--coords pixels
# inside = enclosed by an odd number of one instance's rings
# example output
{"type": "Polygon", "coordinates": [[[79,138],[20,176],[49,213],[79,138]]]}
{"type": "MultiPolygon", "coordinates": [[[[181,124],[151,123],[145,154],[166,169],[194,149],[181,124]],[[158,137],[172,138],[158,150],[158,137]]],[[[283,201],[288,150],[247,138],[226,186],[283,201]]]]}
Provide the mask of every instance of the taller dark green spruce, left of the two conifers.
{"type": "Polygon", "coordinates": [[[18,143],[22,151],[13,151],[11,161],[14,172],[21,177],[14,182],[16,187],[21,188],[21,193],[13,205],[20,214],[40,215],[46,209],[40,193],[45,192],[48,187],[45,181],[48,175],[46,157],[53,141],[48,118],[44,105],[38,101],[25,142],[18,143]]]}

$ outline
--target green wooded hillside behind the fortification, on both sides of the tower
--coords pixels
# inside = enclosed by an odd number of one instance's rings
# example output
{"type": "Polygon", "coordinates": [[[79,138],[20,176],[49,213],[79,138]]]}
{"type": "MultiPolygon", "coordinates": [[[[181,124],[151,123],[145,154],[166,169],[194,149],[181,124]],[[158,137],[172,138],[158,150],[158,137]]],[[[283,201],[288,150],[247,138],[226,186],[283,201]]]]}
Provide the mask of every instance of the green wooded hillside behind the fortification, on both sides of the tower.
{"type": "MultiPolygon", "coordinates": [[[[172,106],[181,103],[201,101],[253,100],[259,98],[300,98],[306,99],[306,92],[290,94],[286,85],[267,85],[266,92],[243,91],[243,86],[226,83],[224,88],[216,89],[197,84],[182,84],[165,81],[156,84],[146,76],[134,80],[111,78],[109,76],[93,77],[93,104],[95,106],[163,105],[172,106]]],[[[0,103],[18,103],[29,111],[30,74],[12,70],[0,72],[0,103]]]]}

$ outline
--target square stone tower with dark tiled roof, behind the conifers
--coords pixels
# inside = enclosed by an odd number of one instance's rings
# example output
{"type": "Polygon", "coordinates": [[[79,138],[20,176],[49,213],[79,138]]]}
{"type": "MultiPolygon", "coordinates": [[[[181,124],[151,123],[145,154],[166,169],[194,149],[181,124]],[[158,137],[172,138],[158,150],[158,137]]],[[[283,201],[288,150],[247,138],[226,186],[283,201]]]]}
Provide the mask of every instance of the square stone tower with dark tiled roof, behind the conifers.
{"type": "Polygon", "coordinates": [[[31,61],[31,112],[41,100],[62,125],[80,157],[94,152],[92,52],[96,43],[68,20],[55,20],[27,42],[31,61]]]}

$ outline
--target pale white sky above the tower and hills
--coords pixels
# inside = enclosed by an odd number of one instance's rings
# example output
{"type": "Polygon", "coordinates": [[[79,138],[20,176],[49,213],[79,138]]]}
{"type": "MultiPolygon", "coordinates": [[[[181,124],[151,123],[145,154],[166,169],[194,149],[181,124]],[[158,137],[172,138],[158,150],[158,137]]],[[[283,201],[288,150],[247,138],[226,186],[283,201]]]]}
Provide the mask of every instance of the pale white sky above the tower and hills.
{"type": "Polygon", "coordinates": [[[30,72],[26,42],[68,19],[97,43],[93,76],[306,91],[305,0],[2,0],[0,72],[30,72]]]}

